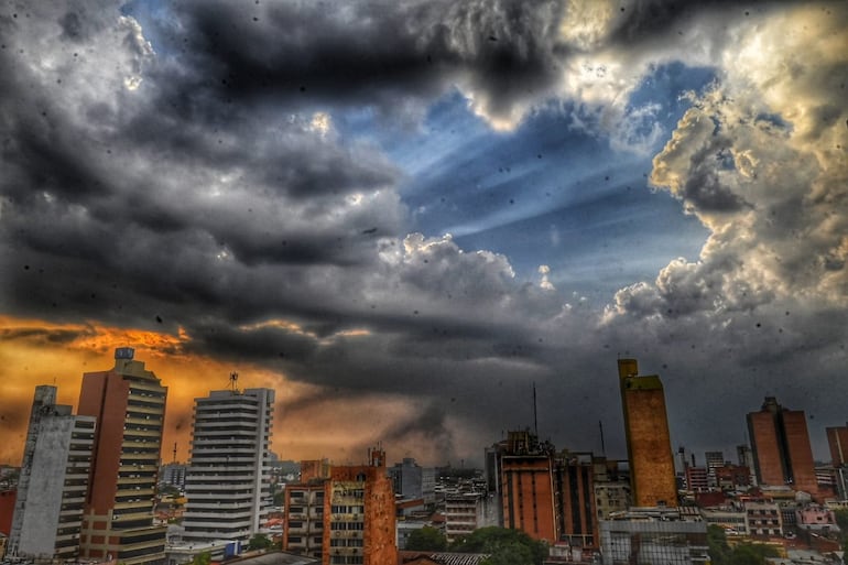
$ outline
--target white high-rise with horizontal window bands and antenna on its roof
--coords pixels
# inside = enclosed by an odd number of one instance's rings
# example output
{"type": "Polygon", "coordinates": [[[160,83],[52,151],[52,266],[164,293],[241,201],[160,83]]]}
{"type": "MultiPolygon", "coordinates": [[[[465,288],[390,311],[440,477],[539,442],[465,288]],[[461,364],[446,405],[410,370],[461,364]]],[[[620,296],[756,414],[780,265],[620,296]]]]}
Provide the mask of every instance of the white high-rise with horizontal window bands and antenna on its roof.
{"type": "Polygon", "coordinates": [[[261,532],[273,506],[273,413],[271,389],[233,388],[195,399],[184,540],[247,542],[261,532]]]}

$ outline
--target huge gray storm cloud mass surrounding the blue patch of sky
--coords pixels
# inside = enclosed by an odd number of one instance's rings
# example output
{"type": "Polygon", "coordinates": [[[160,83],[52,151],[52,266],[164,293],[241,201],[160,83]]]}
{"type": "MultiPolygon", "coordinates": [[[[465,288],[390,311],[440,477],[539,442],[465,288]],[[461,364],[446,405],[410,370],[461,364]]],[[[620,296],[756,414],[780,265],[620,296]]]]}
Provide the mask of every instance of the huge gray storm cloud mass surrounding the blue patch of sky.
{"type": "Polygon", "coordinates": [[[739,45],[715,35],[705,51],[720,82],[693,97],[654,161],[653,184],[710,229],[702,256],[633,281],[605,312],[546,278],[520,280],[508,257],[407,235],[402,173],[334,124],[336,111],[368,109],[417,126],[455,88],[501,129],[563,91],[595,111],[612,95],[596,97],[588,79],[564,87],[575,57],[633,63],[623,78],[590,69],[620,97],[668,61],[657,45],[677,25],[714,30],[741,10],[718,4],[626,3],[578,47],[558,2],[188,2],[164,7],[173,15],[150,30],[115,7],[39,6],[26,18],[4,3],[2,312],[178,335],[175,357],[312,387],[283,401],[304,417],[333,401],[400,399],[406,412],[379,412],[374,435],[427,444],[431,458],[430,444],[476,458],[529,425],[533,383],[543,436],[599,448],[587,430],[602,421],[621,456],[617,356],[663,377],[673,436],[693,447],[740,443],[764,392],[841,423],[845,57],[818,56],[811,41],[782,47],[779,10],[758,4],[758,28],[739,17],[739,45]],[[760,33],[773,63],[746,58],[760,33]],[[802,55],[786,82],[781,69],[802,55]],[[705,426],[717,413],[727,422],[705,426]]]}

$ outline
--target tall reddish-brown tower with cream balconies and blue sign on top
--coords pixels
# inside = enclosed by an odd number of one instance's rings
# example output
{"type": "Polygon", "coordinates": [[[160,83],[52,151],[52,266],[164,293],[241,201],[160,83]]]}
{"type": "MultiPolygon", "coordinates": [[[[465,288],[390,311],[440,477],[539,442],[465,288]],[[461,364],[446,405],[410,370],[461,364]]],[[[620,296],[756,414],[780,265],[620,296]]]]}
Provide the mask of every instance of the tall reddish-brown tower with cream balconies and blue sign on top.
{"type": "Polygon", "coordinates": [[[154,525],[167,388],[129,347],[115,367],[83,376],[78,413],[97,419],[80,557],[124,565],[162,561],[165,526],[154,525]]]}

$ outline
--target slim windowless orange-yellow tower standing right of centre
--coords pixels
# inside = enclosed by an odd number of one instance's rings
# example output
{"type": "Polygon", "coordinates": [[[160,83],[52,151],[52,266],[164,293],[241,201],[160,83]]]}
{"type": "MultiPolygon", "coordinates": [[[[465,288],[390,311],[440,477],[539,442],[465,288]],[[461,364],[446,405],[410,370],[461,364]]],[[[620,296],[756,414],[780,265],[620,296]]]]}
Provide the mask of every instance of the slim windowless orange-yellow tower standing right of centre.
{"type": "Polygon", "coordinates": [[[665,393],[656,374],[639,376],[635,359],[618,360],[633,504],[677,506],[665,393]]]}

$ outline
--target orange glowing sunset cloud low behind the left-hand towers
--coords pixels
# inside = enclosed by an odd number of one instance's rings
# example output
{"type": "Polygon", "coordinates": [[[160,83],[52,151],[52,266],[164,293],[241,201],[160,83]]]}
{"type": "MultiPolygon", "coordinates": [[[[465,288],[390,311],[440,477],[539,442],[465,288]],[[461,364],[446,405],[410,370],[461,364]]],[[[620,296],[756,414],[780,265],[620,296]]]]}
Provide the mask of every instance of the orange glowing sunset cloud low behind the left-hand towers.
{"type": "MultiPolygon", "coordinates": [[[[351,330],[349,335],[361,335],[351,330]]],[[[83,373],[112,367],[118,347],[133,347],[168,388],[162,460],[186,461],[194,399],[228,388],[271,388],[276,393],[273,449],[284,459],[358,460],[389,433],[398,419],[414,413],[401,398],[347,398],[317,384],[292,381],[251,363],[188,352],[191,336],[117,328],[97,323],[58,324],[0,316],[0,464],[20,465],[34,389],[58,387],[58,402],[76,406],[83,373]],[[369,417],[362,417],[369,414],[369,417]],[[319,415],[319,416],[316,416],[319,415]],[[360,453],[361,452],[361,453],[360,453]]]]}

